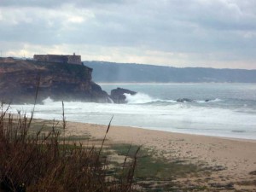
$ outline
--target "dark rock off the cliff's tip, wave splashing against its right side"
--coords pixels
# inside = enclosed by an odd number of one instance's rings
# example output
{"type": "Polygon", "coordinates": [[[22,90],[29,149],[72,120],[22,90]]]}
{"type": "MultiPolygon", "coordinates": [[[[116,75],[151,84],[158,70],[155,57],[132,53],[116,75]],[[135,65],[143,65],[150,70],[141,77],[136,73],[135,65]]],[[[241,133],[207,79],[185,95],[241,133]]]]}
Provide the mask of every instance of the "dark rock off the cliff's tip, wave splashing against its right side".
{"type": "Polygon", "coordinates": [[[131,96],[137,94],[137,92],[132,90],[125,90],[123,88],[117,88],[111,90],[110,98],[113,100],[114,103],[125,103],[126,96],[124,94],[131,94],[131,96]]]}

